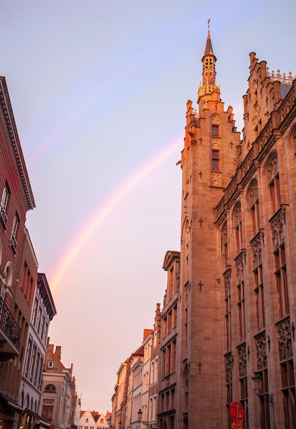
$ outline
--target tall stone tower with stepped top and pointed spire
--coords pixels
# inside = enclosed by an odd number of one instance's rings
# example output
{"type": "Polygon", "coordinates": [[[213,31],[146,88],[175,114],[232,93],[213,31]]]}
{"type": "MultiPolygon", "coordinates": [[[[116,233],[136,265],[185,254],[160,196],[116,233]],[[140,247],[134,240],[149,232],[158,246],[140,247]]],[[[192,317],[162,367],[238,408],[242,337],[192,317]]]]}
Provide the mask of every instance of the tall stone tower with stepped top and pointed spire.
{"type": "MultiPolygon", "coordinates": [[[[224,109],[216,83],[210,31],[202,58],[198,108],[187,102],[182,168],[180,303],[177,337],[177,428],[221,428],[221,291],[219,231],[214,208],[236,173],[240,134],[232,107],[224,109]]],[[[225,252],[227,249],[225,249],[225,252]]],[[[222,308],[223,306],[223,308],[222,308]]]]}

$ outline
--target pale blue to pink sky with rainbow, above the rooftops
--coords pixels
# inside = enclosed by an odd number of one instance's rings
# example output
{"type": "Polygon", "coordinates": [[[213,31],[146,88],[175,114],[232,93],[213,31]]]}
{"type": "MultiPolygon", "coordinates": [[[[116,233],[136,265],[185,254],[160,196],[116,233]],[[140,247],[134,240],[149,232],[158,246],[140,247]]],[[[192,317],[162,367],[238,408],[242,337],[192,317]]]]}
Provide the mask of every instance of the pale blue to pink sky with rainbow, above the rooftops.
{"type": "Polygon", "coordinates": [[[26,225],[82,409],[112,410],[116,371],[162,306],[208,19],[241,131],[249,53],[296,75],[295,14],[293,0],[0,0],[0,75],[36,202],[26,225]]]}

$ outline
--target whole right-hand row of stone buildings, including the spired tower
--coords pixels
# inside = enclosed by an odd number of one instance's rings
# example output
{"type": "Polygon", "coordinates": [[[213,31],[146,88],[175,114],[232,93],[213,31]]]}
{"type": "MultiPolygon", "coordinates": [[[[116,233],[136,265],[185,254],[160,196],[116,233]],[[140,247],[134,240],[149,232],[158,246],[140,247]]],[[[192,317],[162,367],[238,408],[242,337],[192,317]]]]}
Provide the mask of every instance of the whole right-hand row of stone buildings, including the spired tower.
{"type": "Polygon", "coordinates": [[[180,252],[117,371],[112,428],[296,428],[296,79],[249,58],[241,138],[208,32],[177,162],[180,252]]]}

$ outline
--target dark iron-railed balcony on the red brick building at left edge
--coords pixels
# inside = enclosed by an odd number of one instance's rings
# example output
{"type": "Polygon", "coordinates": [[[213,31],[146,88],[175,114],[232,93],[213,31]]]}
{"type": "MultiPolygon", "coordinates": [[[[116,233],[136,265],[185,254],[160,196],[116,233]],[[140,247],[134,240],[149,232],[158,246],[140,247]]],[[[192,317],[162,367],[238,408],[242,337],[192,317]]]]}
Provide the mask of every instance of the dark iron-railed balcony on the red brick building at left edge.
{"type": "Polygon", "coordinates": [[[0,297],[0,361],[12,359],[18,355],[20,339],[21,328],[0,297]]]}

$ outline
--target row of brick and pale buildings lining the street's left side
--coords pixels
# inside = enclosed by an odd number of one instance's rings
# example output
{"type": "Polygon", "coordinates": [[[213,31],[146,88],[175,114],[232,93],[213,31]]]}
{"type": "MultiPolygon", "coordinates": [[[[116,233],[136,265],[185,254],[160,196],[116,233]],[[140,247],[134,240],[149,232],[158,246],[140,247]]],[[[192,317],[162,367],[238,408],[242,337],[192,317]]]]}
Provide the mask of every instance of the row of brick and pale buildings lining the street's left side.
{"type": "Polygon", "coordinates": [[[47,337],[56,308],[25,227],[35,202],[4,77],[0,190],[0,428],[66,429],[75,419],[75,378],[47,337]]]}

